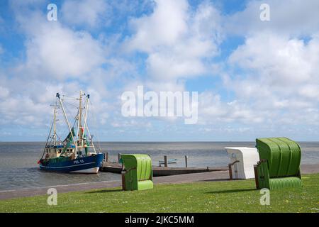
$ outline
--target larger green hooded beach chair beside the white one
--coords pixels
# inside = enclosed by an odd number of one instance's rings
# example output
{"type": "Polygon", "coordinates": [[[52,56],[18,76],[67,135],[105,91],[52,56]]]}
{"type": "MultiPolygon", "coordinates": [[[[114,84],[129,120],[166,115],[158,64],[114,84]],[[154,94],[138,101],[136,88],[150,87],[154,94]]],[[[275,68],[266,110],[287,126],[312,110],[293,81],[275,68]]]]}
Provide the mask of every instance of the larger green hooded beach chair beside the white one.
{"type": "Polygon", "coordinates": [[[254,165],[257,189],[301,187],[301,148],[289,138],[256,139],[259,162],[254,165]]]}

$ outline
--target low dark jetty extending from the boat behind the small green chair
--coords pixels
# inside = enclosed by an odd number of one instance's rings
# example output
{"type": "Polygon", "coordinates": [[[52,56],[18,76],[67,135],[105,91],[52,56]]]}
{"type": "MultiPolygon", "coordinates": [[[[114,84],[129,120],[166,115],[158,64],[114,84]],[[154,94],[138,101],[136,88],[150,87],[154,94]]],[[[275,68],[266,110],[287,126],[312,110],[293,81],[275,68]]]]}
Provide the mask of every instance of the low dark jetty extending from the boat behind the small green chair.
{"type": "MultiPolygon", "coordinates": [[[[113,172],[121,174],[122,165],[118,162],[103,162],[100,168],[101,172],[113,172]]],[[[153,166],[153,176],[171,176],[171,175],[185,175],[199,172],[214,172],[214,171],[228,171],[228,167],[158,167],[153,166]]]]}

